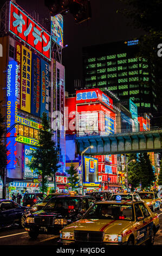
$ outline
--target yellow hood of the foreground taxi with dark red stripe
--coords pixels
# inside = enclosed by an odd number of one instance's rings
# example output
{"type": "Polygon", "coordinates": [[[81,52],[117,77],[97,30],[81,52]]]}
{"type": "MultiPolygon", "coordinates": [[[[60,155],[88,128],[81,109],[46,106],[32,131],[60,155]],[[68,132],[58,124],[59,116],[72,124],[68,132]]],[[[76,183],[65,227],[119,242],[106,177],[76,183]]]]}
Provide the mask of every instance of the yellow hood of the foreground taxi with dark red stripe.
{"type": "Polygon", "coordinates": [[[62,231],[72,232],[76,230],[88,230],[88,231],[104,231],[107,234],[120,234],[130,225],[132,221],[121,220],[90,220],[82,219],[80,221],[73,222],[63,228],[62,231]]]}

